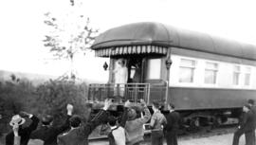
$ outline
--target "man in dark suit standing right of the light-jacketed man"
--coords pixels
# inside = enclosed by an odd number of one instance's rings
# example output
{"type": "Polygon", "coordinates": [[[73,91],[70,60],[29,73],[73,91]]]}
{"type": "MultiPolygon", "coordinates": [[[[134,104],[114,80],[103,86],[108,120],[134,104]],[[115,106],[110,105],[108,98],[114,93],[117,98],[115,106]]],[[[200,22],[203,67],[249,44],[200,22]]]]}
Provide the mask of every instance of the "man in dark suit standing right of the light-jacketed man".
{"type": "Polygon", "coordinates": [[[167,124],[164,128],[167,145],[177,145],[177,132],[180,124],[180,115],[174,111],[174,104],[168,104],[170,113],[167,115],[167,124]]]}

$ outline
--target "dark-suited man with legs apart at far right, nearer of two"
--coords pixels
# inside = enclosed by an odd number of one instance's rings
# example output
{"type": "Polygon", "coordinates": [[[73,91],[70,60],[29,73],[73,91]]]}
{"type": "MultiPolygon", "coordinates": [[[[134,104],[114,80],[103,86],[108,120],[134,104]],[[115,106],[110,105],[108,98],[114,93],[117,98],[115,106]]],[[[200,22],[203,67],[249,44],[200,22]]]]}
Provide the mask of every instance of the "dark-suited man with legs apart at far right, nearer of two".
{"type": "Polygon", "coordinates": [[[253,113],[250,110],[249,105],[243,107],[243,117],[240,122],[238,130],[234,133],[232,145],[239,144],[239,138],[243,134],[246,136],[246,145],[255,145],[255,138],[253,136],[254,132],[254,122],[253,113]]]}

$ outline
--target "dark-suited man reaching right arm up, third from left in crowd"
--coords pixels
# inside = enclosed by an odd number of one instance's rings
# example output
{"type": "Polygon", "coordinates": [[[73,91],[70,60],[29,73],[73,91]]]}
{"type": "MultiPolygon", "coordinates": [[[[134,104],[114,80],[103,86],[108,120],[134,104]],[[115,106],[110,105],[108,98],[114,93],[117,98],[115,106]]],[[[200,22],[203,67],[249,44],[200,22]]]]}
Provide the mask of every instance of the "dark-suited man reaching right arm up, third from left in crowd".
{"type": "Polygon", "coordinates": [[[107,121],[107,109],[112,104],[112,100],[105,100],[104,107],[96,115],[95,118],[90,120],[84,125],[81,125],[81,118],[73,116],[69,119],[71,129],[68,133],[58,136],[59,145],[88,145],[88,136],[92,131],[101,124],[107,121]]]}

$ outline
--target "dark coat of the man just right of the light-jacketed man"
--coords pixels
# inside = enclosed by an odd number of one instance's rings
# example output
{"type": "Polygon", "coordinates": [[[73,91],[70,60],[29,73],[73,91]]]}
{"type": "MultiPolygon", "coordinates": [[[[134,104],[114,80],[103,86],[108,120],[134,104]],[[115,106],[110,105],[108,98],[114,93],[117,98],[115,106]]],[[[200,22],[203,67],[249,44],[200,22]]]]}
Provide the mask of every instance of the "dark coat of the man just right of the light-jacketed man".
{"type": "Polygon", "coordinates": [[[165,126],[166,132],[172,132],[174,130],[178,130],[180,125],[180,115],[179,113],[173,111],[166,116],[167,124],[165,126]]]}

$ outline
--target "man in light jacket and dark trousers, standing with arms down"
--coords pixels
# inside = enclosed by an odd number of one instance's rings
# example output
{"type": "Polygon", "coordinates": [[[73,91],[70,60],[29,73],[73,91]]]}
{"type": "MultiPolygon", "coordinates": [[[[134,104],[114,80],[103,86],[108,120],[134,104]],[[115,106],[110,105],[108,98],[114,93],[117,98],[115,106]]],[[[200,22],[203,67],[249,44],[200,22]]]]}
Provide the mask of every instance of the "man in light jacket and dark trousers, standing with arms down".
{"type": "Polygon", "coordinates": [[[159,103],[153,102],[152,108],[154,114],[150,121],[151,131],[151,144],[152,145],[162,145],[163,144],[163,128],[167,124],[166,118],[159,110],[159,103]]]}

